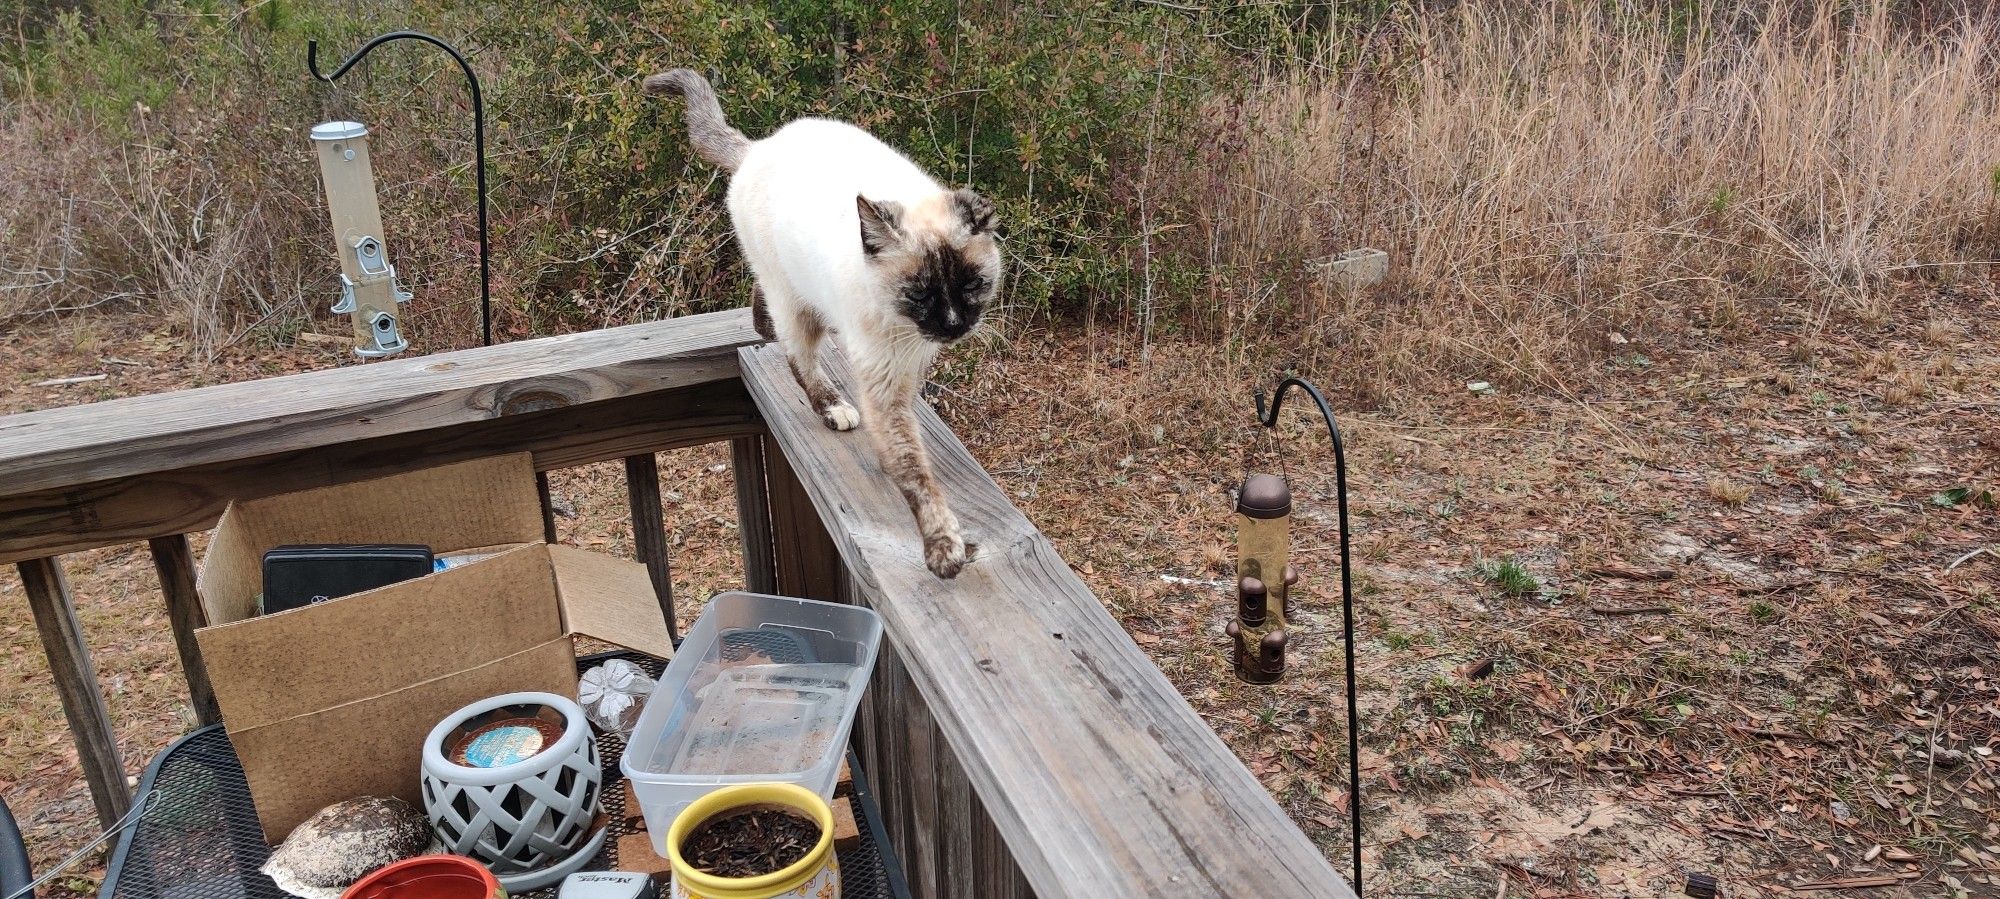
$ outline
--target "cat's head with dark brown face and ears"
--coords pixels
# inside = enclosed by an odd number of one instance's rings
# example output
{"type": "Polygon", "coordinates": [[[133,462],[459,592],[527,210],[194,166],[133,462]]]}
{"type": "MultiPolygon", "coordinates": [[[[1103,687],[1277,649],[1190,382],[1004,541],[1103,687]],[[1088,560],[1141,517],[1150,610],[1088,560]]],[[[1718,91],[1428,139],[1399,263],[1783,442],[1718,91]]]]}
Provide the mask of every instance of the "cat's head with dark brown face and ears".
{"type": "Polygon", "coordinates": [[[854,198],[868,266],[896,312],[932,342],[956,344],[1000,294],[994,204],[968,188],[912,204],[854,198]]]}

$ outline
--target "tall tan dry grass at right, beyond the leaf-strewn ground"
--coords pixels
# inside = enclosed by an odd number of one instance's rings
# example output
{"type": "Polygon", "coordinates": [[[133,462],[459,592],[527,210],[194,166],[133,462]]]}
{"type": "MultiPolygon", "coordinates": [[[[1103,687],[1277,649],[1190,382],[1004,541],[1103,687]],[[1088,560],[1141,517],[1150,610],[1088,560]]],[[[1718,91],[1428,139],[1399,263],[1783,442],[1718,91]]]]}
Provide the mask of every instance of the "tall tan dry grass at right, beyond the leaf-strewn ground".
{"type": "Polygon", "coordinates": [[[1880,324],[1890,280],[1962,278],[2000,238],[1996,22],[1890,6],[1460,4],[1336,34],[1218,102],[1176,174],[1214,272],[1192,318],[1314,322],[1380,380],[1548,388],[1612,332],[1880,324]],[[1392,252],[1390,284],[1278,266],[1354,246],[1392,252]]]}

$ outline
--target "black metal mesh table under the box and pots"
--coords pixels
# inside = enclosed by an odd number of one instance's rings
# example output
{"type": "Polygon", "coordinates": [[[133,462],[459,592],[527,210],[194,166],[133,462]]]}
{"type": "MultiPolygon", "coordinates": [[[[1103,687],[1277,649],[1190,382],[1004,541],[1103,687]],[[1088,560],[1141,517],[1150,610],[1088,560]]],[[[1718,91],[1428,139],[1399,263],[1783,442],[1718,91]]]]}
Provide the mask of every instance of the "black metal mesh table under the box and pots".
{"type": "MultiPolygon", "coordinates": [[[[620,655],[660,673],[656,659],[620,655]]],[[[608,655],[582,659],[580,667],[604,657],[608,655]]],[[[618,773],[624,739],[598,737],[598,753],[604,761],[604,811],[612,833],[604,851],[586,867],[590,871],[612,869],[618,861],[618,837],[632,833],[624,823],[626,791],[618,773]]],[[[840,853],[840,895],[908,899],[902,871],[886,851],[888,837],[874,795],[852,753],[848,765],[854,769],[854,819],[862,827],[862,841],[840,853]]],[[[270,847],[250,801],[250,783],[222,725],[202,727],[160,751],[146,767],[132,801],[142,811],[112,851],[98,899],[292,899],[258,871],[270,857],[270,847]]],[[[548,899],[554,893],[550,887],[524,897],[548,899]]]]}

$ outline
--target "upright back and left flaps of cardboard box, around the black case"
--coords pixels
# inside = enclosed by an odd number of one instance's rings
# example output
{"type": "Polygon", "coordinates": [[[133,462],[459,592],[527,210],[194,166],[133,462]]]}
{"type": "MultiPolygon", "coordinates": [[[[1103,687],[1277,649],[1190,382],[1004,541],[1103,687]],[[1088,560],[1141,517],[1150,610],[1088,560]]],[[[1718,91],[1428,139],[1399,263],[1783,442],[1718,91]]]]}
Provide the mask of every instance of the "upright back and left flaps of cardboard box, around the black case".
{"type": "Polygon", "coordinates": [[[460,549],[542,539],[528,453],[424,467],[230,503],[202,555],[196,591],[210,623],[256,615],[264,553],[292,543],[422,543],[460,549]]]}

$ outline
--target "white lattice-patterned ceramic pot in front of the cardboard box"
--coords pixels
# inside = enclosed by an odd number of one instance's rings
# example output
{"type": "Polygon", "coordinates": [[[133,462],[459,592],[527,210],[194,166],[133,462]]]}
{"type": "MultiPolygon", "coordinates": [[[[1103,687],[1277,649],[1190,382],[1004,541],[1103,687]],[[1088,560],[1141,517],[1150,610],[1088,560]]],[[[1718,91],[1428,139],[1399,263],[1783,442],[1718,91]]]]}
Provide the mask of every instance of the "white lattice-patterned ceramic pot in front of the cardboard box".
{"type": "Polygon", "coordinates": [[[552,885],[604,847],[604,769],[584,709],[554,693],[482,699],[424,737],[424,811],[446,851],[508,893],[552,885]]]}

